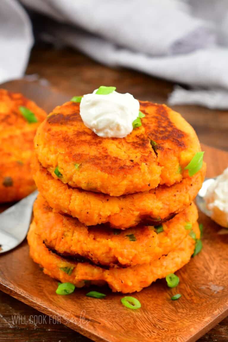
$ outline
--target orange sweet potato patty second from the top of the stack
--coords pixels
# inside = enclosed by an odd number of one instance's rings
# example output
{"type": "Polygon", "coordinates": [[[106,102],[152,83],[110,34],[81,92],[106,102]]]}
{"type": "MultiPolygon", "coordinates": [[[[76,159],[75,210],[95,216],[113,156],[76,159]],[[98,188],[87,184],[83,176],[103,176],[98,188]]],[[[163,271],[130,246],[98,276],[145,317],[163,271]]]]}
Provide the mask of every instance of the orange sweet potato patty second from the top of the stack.
{"type": "Polygon", "coordinates": [[[69,214],[87,226],[110,223],[126,229],[138,223],[159,224],[184,210],[196,197],[205,176],[205,164],[193,177],[170,187],[119,197],[69,187],[34,159],[34,179],[42,196],[55,211],[69,214]],[[160,221],[160,222],[159,222],[160,221]]]}

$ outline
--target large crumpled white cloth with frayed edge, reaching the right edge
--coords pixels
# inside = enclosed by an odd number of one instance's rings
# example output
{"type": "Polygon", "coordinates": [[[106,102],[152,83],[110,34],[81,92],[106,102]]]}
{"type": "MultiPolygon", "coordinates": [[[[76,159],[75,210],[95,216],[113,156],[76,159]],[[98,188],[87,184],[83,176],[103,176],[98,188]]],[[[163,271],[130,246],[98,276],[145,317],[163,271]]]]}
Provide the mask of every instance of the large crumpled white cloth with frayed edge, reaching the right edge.
{"type": "Polygon", "coordinates": [[[70,44],[110,66],[191,86],[174,90],[172,104],[228,108],[228,0],[21,2],[55,19],[45,39],[70,44]]]}

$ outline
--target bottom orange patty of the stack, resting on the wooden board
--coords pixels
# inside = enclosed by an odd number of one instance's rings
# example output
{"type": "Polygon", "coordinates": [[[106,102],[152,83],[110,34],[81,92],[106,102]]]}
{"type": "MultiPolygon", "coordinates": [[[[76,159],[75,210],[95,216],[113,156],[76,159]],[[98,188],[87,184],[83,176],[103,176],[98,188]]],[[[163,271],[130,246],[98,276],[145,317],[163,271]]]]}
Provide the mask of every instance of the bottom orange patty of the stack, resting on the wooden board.
{"type": "MultiPolygon", "coordinates": [[[[198,223],[193,230],[197,238],[200,236],[198,223]]],[[[134,292],[149,286],[151,282],[164,278],[176,272],[187,264],[195,248],[195,240],[189,235],[181,244],[168,255],[148,264],[136,265],[127,268],[110,267],[104,269],[89,263],[76,263],[59,257],[43,244],[42,238],[37,235],[36,223],[33,222],[28,233],[30,256],[43,267],[43,272],[61,282],[71,282],[76,287],[83,287],[86,282],[107,282],[113,292],[134,292]]]]}

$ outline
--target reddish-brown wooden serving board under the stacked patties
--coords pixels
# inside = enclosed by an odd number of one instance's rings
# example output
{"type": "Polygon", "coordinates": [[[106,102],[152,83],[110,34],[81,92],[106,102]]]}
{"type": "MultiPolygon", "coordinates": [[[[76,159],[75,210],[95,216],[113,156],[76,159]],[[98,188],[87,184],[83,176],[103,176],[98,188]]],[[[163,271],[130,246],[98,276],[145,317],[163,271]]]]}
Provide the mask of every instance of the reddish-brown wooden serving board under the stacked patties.
{"type": "MultiPolygon", "coordinates": [[[[47,111],[69,99],[39,82],[13,81],[3,87],[23,92],[47,111]]],[[[208,177],[228,166],[228,153],[205,145],[202,148],[208,177]]],[[[134,293],[142,304],[139,310],[122,306],[123,295],[107,288],[102,289],[107,294],[103,300],[86,297],[86,289],[56,295],[57,281],[32,262],[26,241],[0,255],[0,289],[94,341],[196,341],[228,315],[228,235],[218,234],[221,228],[199,214],[204,225],[202,252],[177,272],[177,288],[167,288],[163,279],[134,293]],[[175,293],[182,297],[171,301],[175,293]]]]}

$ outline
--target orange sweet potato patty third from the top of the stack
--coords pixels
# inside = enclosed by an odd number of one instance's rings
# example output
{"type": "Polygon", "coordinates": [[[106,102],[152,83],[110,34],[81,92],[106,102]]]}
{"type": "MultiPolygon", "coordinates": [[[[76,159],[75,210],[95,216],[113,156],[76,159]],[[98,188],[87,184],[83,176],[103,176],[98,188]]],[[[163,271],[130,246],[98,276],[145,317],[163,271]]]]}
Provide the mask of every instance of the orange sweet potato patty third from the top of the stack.
{"type": "Polygon", "coordinates": [[[194,203],[172,220],[163,223],[163,232],[154,226],[139,225],[127,231],[107,227],[86,227],[77,219],[53,212],[39,194],[33,207],[36,233],[46,247],[58,253],[88,259],[94,264],[130,266],[149,263],[174,250],[188,235],[186,223],[198,219],[194,203]]]}

